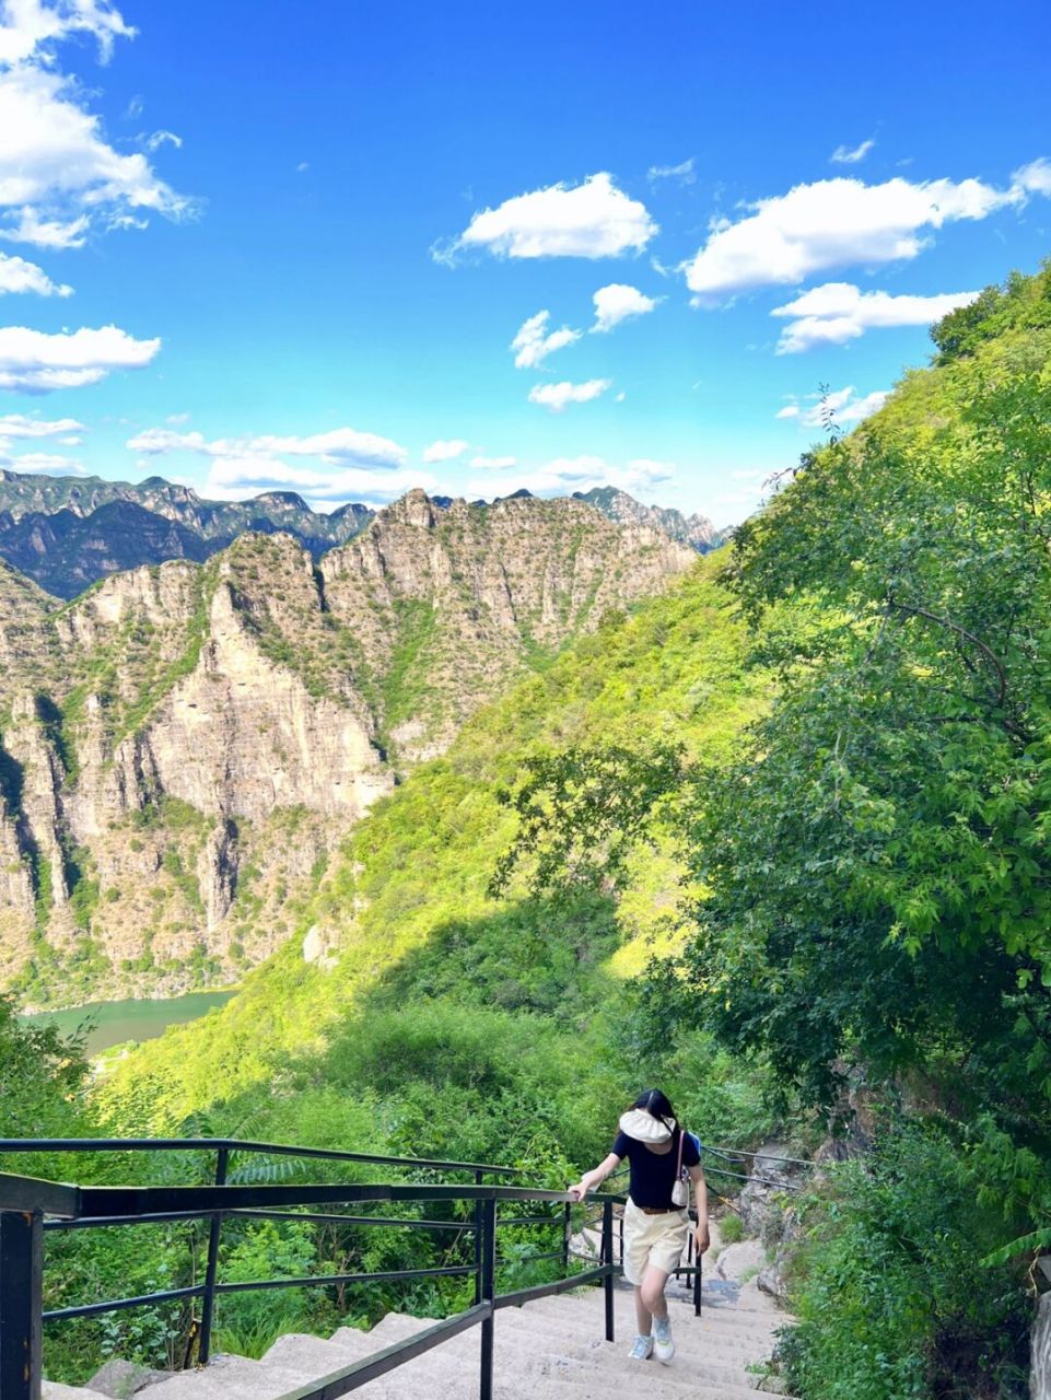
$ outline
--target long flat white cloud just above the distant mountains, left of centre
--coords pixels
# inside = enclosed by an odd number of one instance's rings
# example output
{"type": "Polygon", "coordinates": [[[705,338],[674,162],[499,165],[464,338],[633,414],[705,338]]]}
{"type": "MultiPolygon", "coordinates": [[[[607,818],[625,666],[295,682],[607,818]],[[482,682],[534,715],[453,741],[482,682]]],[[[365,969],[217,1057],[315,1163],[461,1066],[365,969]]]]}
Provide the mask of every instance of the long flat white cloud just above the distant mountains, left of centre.
{"type": "Polygon", "coordinates": [[[172,452],[209,458],[203,490],[220,500],[294,490],[308,501],[332,505],[347,500],[393,500],[413,486],[437,487],[428,473],[404,466],[409,454],[399,442],[347,427],[306,437],[260,434],[211,441],[203,433],[147,428],[129,438],[126,447],[144,458],[172,452]],[[290,463],[285,458],[313,462],[290,463]]]}

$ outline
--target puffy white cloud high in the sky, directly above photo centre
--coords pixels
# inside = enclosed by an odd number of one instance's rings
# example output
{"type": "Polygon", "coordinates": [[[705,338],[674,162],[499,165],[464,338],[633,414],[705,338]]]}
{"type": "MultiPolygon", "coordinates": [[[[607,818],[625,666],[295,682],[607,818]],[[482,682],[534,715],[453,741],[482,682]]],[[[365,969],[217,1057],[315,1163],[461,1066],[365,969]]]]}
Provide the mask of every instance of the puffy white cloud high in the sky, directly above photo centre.
{"type": "Polygon", "coordinates": [[[449,263],[466,249],[498,258],[616,258],[645,248],[656,232],[645,204],[602,172],[581,185],[549,185],[486,209],[459,238],[431,252],[449,263]]]}

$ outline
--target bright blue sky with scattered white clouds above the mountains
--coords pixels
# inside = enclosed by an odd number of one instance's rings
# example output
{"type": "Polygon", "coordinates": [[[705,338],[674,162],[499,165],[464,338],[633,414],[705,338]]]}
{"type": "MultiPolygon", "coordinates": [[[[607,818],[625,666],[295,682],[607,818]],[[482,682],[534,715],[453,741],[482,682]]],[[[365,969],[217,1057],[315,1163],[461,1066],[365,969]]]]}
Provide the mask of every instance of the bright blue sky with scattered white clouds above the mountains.
{"type": "Polygon", "coordinates": [[[1036,0],[0,0],[0,462],[740,519],[820,384],[858,420],[1051,253],[1048,41],[1036,0]]]}

